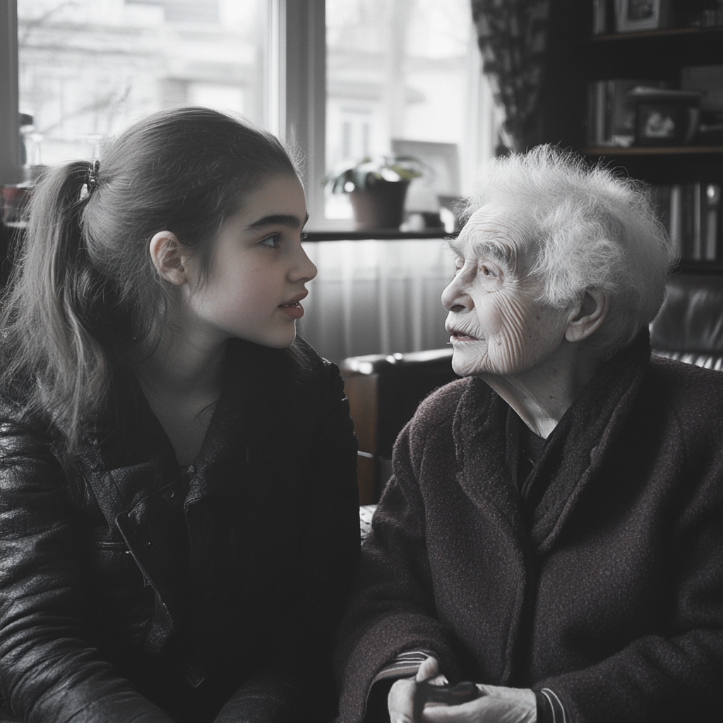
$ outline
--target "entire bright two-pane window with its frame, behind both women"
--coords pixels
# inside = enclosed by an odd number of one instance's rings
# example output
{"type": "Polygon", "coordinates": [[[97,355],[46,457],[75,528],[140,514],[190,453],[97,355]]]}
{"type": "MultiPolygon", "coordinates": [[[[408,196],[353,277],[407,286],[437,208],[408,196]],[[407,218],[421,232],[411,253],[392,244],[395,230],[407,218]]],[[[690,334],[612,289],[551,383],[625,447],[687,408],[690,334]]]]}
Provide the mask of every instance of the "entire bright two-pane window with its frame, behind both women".
{"type": "MultiPolygon", "coordinates": [[[[322,186],[335,163],[411,143],[436,163],[437,181],[451,168],[446,190],[464,194],[492,152],[469,0],[17,0],[17,18],[15,9],[0,4],[0,32],[18,38],[0,48],[2,182],[20,180],[20,158],[89,158],[133,119],[198,103],[296,147],[310,228],[342,229],[346,198],[322,186]]],[[[415,181],[410,198],[422,191],[429,202],[438,190],[415,181]]]]}

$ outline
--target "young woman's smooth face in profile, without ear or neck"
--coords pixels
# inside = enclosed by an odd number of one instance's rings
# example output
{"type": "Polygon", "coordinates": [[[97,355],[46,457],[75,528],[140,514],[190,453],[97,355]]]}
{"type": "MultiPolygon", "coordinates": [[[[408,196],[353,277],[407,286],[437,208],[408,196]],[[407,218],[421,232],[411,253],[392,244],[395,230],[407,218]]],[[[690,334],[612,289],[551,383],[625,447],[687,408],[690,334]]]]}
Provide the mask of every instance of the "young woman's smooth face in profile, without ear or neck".
{"type": "Polygon", "coordinates": [[[202,333],[275,348],[294,342],[304,285],[317,275],[301,247],[306,221],[296,176],[275,176],[244,199],[218,232],[207,278],[189,269],[187,300],[202,333]]]}

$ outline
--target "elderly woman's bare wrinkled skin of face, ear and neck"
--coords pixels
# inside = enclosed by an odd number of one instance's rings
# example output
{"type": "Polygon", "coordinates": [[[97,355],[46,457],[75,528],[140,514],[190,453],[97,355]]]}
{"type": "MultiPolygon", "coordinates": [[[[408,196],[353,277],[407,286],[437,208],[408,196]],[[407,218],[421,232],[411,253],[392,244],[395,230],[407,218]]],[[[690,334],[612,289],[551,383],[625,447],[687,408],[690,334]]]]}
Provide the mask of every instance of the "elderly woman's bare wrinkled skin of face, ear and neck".
{"type": "Polygon", "coordinates": [[[607,292],[581,288],[562,308],[539,301],[532,225],[515,205],[483,206],[450,247],[457,271],[442,304],[453,369],[480,377],[547,437],[602,363],[587,340],[607,317],[607,292]]]}

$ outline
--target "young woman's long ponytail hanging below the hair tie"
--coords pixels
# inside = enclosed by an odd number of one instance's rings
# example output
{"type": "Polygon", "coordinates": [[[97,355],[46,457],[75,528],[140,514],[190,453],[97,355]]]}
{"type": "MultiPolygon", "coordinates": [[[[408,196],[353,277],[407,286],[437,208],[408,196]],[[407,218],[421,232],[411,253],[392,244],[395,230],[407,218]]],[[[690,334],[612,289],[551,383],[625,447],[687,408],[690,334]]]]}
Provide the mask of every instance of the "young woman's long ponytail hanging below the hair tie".
{"type": "Polygon", "coordinates": [[[73,440],[87,401],[103,398],[108,382],[88,323],[103,282],[83,239],[87,171],[87,163],[69,163],[38,185],[0,316],[1,391],[73,440]]]}

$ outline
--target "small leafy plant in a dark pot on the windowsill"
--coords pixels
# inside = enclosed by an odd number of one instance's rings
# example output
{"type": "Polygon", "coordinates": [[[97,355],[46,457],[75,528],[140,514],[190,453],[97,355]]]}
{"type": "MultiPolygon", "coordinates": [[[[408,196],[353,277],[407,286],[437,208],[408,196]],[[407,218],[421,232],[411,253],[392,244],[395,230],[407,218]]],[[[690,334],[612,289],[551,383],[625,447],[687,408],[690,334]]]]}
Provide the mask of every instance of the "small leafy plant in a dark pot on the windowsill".
{"type": "Polygon", "coordinates": [[[408,155],[367,156],[327,176],[333,193],[348,193],[356,228],[399,228],[412,179],[422,176],[422,161],[408,155]]]}

